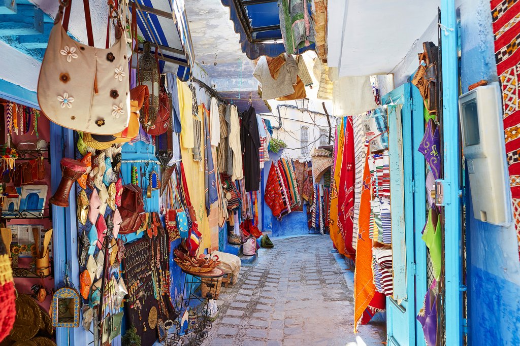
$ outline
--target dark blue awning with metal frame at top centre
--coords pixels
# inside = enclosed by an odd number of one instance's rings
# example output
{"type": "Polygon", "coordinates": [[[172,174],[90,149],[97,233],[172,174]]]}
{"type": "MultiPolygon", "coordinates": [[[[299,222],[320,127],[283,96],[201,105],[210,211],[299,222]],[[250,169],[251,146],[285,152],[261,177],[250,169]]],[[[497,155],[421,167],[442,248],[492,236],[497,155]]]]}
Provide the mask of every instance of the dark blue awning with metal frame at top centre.
{"type": "MultiPolygon", "coordinates": [[[[279,56],[285,51],[280,31],[277,0],[220,0],[229,7],[229,19],[240,34],[240,46],[254,60],[259,56],[279,56]]],[[[310,4],[309,4],[310,6],[310,4]]],[[[314,49],[314,44],[300,53],[314,49]]]]}

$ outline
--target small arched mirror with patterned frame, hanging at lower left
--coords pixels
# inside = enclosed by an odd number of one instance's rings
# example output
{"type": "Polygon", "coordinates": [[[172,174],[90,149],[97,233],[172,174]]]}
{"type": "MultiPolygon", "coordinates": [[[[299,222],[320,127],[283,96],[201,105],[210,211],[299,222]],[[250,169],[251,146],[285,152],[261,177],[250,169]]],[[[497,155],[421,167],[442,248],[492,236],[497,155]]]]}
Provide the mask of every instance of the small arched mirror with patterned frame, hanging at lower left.
{"type": "Polygon", "coordinates": [[[80,325],[80,295],[75,289],[63,287],[53,296],[53,327],[80,325]]]}

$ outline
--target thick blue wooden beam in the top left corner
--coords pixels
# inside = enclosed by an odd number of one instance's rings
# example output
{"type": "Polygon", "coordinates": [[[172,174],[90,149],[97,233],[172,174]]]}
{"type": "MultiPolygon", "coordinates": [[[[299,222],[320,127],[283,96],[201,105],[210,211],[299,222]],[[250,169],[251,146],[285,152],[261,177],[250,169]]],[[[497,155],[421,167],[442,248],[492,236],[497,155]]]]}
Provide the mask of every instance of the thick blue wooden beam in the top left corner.
{"type": "Polygon", "coordinates": [[[43,11],[34,5],[19,5],[14,15],[0,15],[0,36],[43,33],[43,11]]]}

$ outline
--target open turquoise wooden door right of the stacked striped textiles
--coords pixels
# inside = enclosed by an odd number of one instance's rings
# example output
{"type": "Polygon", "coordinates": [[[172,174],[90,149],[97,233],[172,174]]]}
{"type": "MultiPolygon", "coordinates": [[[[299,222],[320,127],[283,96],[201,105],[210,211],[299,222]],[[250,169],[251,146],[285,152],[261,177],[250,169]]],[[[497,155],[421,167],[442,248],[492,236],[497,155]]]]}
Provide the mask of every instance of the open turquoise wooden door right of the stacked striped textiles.
{"type": "Polygon", "coordinates": [[[415,320],[426,292],[424,157],[417,151],[424,134],[419,90],[404,84],[383,97],[388,114],[394,297],[387,298],[389,345],[425,345],[415,320]],[[417,187],[417,188],[416,188],[417,187]]]}

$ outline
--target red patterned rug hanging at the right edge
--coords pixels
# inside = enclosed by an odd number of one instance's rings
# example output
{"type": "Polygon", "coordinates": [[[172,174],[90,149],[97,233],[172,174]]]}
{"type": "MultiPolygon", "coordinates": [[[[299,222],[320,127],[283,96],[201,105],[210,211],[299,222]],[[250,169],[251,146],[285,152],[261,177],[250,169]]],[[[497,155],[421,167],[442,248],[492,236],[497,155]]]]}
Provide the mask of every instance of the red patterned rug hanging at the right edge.
{"type": "Polygon", "coordinates": [[[520,256],[520,2],[491,0],[495,59],[502,87],[505,152],[508,157],[514,222],[520,256]]]}

